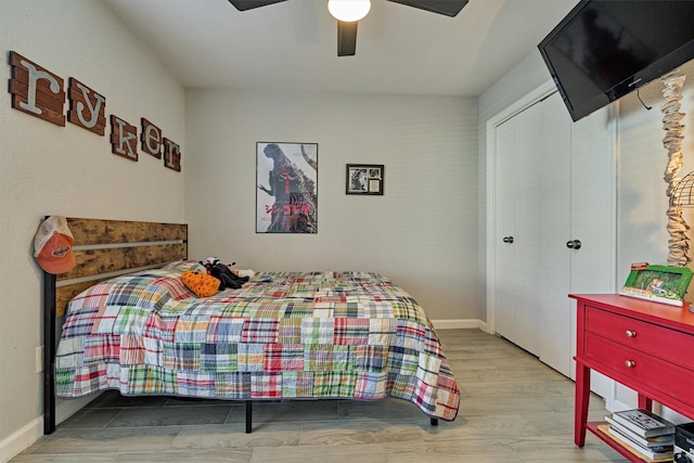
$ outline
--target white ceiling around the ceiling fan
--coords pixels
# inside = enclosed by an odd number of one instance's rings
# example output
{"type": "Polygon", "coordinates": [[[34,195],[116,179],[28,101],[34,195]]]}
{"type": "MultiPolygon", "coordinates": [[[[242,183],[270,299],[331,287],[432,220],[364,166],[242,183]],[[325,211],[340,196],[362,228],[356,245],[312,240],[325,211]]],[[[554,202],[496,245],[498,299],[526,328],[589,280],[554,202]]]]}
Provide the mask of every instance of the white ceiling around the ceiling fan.
{"type": "MultiPolygon", "coordinates": [[[[372,0],[337,56],[326,0],[103,0],[187,88],[477,97],[578,0],[470,0],[454,17],[372,0]]],[[[548,74],[549,78],[549,74],[548,74]]]]}

